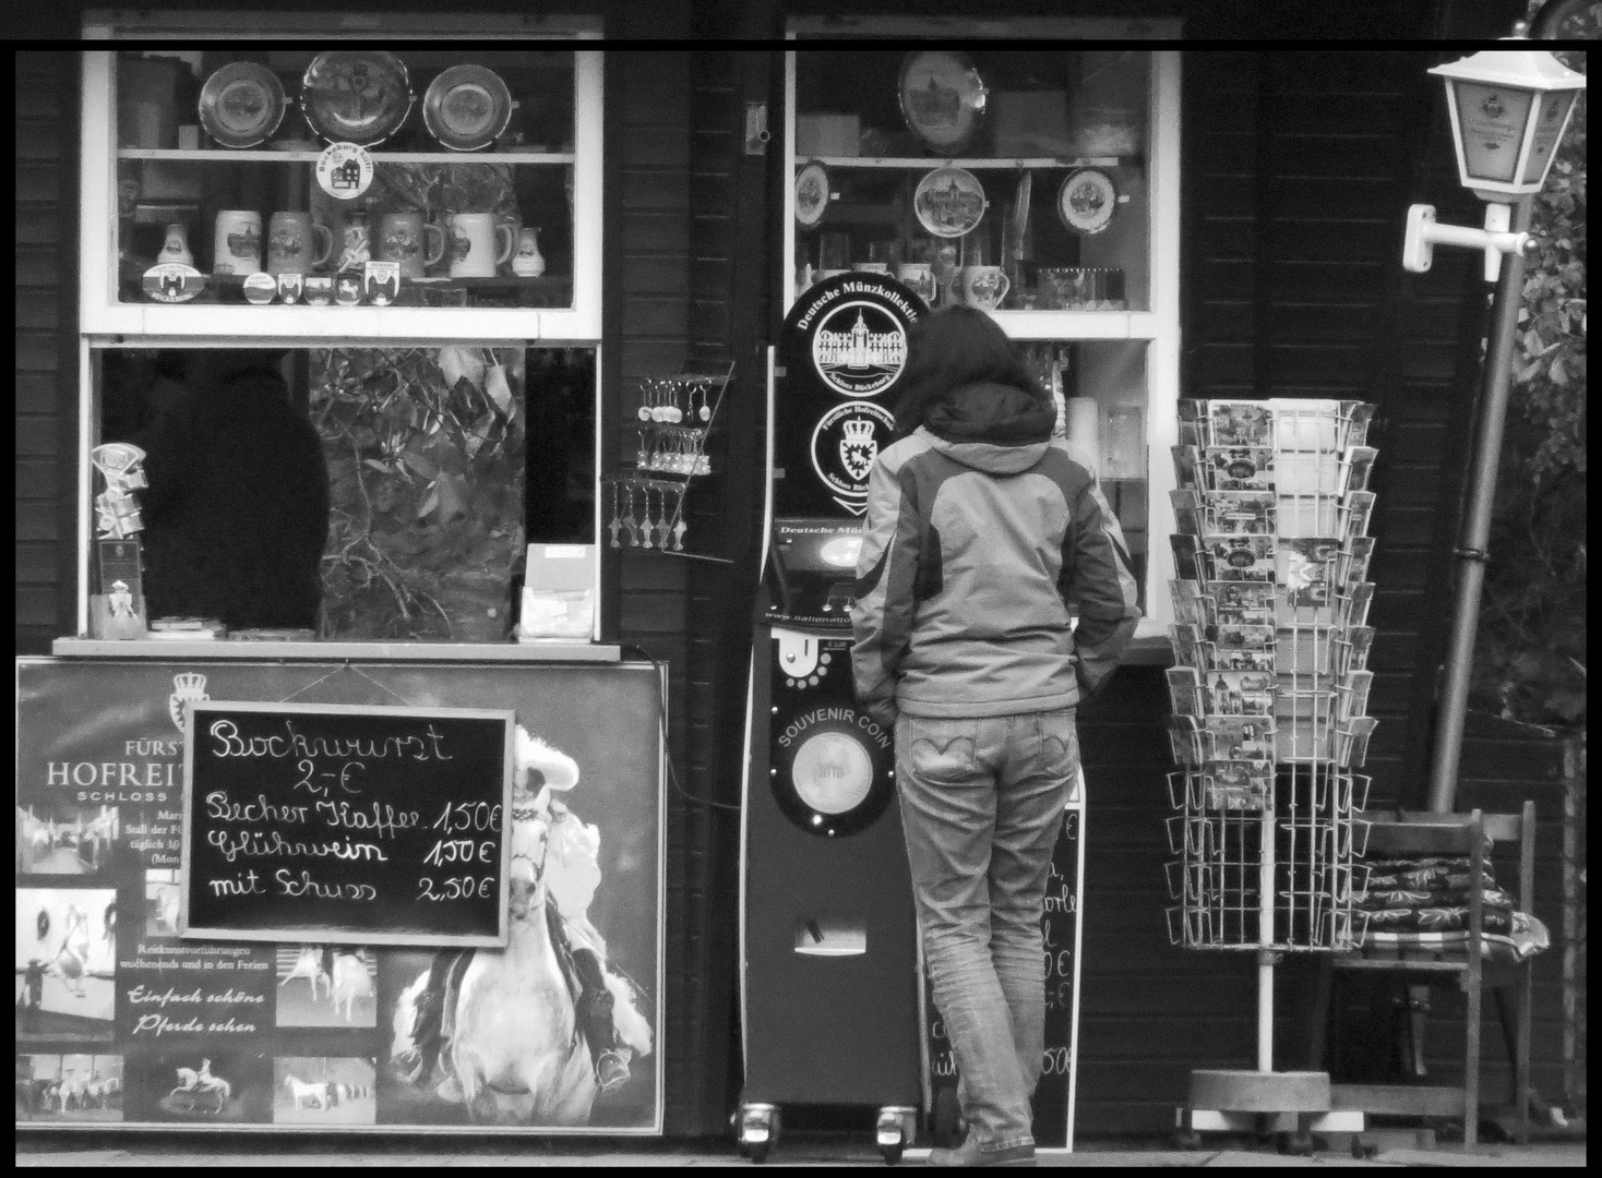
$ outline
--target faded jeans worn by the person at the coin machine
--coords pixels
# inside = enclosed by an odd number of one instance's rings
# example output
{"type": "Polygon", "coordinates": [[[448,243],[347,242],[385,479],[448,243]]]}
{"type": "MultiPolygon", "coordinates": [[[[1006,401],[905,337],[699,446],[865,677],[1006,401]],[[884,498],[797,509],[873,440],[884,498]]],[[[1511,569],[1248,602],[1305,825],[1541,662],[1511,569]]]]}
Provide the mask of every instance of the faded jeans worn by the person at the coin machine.
{"type": "Polygon", "coordinates": [[[896,720],[907,859],[969,1136],[1032,1144],[1046,1028],[1040,914],[1080,763],[1073,709],[896,720]]]}

